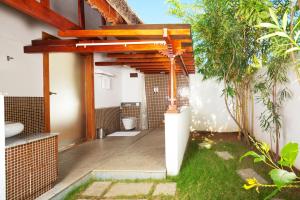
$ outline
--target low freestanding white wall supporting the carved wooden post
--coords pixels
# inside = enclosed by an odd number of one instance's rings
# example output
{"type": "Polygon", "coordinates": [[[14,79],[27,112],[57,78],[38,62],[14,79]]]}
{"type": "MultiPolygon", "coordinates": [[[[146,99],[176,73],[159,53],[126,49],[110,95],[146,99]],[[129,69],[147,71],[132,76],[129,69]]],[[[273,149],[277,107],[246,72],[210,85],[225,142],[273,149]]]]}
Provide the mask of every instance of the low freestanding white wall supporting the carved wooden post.
{"type": "Polygon", "coordinates": [[[167,174],[178,175],[190,136],[190,108],[165,114],[165,159],[167,174]]]}

